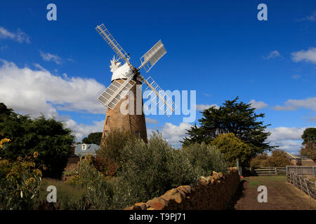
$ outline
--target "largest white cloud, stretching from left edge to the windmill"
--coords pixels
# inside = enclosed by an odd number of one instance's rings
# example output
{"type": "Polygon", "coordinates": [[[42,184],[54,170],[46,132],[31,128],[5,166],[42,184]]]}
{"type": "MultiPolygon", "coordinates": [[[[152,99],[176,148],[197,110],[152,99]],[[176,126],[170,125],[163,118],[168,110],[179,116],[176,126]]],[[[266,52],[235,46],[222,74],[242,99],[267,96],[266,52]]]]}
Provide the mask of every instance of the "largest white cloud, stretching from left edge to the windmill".
{"type": "Polygon", "coordinates": [[[98,95],[105,86],[92,78],[54,76],[37,65],[39,71],[19,68],[2,60],[0,101],[23,114],[56,116],[56,109],[84,113],[104,113],[98,95]]]}

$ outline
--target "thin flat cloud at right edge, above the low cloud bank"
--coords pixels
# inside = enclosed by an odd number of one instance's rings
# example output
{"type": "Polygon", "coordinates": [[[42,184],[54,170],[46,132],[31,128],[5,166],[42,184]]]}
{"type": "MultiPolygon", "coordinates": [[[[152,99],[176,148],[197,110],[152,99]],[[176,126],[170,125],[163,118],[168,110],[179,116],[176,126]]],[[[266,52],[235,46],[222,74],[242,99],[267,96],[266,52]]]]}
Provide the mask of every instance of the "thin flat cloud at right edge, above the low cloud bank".
{"type": "Polygon", "coordinates": [[[289,99],[285,102],[285,106],[274,106],[275,111],[295,111],[298,108],[310,109],[316,111],[316,97],[308,99],[289,99]]]}

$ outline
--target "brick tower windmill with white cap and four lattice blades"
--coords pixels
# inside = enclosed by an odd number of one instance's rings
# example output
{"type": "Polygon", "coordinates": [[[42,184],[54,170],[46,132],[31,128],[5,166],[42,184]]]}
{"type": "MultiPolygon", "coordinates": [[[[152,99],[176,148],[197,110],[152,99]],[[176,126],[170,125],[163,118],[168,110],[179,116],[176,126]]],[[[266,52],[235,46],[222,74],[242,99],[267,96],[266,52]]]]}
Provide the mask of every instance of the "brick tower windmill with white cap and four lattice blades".
{"type": "MultiPolygon", "coordinates": [[[[129,54],[121,48],[121,45],[117,43],[114,37],[107,30],[105,25],[98,25],[96,31],[103,37],[105,42],[114,50],[115,56],[111,60],[112,83],[107,89],[100,94],[98,100],[107,107],[107,115],[105,117],[105,125],[103,129],[103,137],[112,129],[124,129],[129,130],[132,133],[137,134],[145,142],[147,141],[147,131],[145,124],[145,114],[143,113],[143,99],[141,99],[142,113],[141,114],[122,114],[120,113],[120,106],[123,99],[129,92],[133,92],[134,99],[129,99],[130,104],[135,104],[139,99],[136,99],[137,86],[145,83],[147,88],[152,90],[151,100],[160,111],[166,116],[171,116],[175,110],[175,104],[172,99],[162,90],[161,87],[149,76],[145,79],[140,74],[140,69],[143,68],[146,73],[152,69],[152,66],[156,64],[164,54],[166,49],[162,44],[162,41],[158,41],[145,55],[140,57],[140,66],[136,69],[131,62],[129,62],[129,54]],[[122,65],[123,64],[123,65],[122,65]],[[137,84],[137,85],[136,85],[137,84]]],[[[130,106],[130,105],[129,105],[130,106]]],[[[135,106],[135,105],[134,105],[135,106]]]]}

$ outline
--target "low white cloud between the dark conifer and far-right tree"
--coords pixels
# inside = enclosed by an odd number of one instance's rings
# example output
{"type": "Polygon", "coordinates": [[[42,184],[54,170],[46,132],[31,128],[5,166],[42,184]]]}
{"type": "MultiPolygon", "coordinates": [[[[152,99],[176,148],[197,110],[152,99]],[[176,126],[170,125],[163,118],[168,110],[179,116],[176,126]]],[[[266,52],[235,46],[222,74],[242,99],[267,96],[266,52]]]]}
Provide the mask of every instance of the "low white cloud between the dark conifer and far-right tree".
{"type": "Polygon", "coordinates": [[[270,141],[270,146],[279,146],[279,149],[289,153],[298,154],[301,149],[302,139],[305,127],[275,127],[267,128],[267,132],[271,132],[267,141],[270,141]]]}

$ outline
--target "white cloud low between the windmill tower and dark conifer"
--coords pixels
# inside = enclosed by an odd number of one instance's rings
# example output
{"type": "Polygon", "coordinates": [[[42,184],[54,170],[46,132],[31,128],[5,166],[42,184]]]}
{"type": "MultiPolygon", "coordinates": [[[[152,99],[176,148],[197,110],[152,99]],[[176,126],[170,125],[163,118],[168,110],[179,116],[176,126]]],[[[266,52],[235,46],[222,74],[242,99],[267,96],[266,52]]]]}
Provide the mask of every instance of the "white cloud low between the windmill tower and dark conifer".
{"type": "Polygon", "coordinates": [[[180,123],[180,125],[173,125],[171,123],[165,123],[162,127],[152,127],[147,129],[148,137],[154,131],[159,130],[162,133],[162,137],[168,141],[171,146],[180,146],[180,141],[186,136],[186,132],[192,125],[189,123],[180,123]]]}

